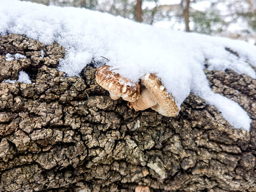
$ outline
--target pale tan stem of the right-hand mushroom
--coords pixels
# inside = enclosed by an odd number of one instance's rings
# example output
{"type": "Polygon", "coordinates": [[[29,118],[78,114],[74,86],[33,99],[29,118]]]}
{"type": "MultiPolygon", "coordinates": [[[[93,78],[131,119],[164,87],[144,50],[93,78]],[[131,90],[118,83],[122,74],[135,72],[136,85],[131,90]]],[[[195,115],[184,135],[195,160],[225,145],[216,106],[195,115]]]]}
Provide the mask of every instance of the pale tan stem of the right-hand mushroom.
{"type": "Polygon", "coordinates": [[[135,111],[145,110],[157,105],[157,100],[154,95],[145,87],[141,87],[141,94],[134,102],[128,102],[128,106],[135,111]]]}

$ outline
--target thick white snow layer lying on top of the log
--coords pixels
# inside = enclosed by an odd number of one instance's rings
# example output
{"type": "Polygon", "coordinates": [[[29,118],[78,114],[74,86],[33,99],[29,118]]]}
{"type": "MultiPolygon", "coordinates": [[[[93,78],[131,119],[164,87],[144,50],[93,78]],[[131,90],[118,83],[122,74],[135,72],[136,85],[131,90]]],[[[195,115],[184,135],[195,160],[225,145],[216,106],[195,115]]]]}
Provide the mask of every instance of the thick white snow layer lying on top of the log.
{"type": "MultiPolygon", "coordinates": [[[[216,106],[234,127],[250,129],[251,119],[243,108],[214,94],[203,71],[207,58],[210,70],[229,68],[256,78],[247,63],[255,65],[256,47],[246,42],[161,29],[86,9],[1,0],[0,35],[9,33],[64,46],[66,57],[60,61],[59,70],[68,76],[78,76],[92,59],[118,69],[117,73],[133,83],[147,73],[155,73],[179,107],[194,92],[216,106]]],[[[28,80],[25,74],[21,76],[21,81],[28,80]]]]}

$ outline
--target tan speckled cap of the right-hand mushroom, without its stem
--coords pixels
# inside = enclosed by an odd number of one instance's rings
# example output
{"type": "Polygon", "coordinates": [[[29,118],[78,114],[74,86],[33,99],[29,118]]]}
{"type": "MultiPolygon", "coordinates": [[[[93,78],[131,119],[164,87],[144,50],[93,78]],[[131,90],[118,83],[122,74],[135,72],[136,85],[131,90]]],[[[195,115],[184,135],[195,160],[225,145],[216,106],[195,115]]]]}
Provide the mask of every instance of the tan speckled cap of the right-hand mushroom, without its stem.
{"type": "Polygon", "coordinates": [[[151,107],[151,109],[167,117],[178,115],[179,108],[173,95],[167,92],[165,86],[155,74],[143,76],[141,84],[146,86],[157,100],[157,104],[151,107]]]}

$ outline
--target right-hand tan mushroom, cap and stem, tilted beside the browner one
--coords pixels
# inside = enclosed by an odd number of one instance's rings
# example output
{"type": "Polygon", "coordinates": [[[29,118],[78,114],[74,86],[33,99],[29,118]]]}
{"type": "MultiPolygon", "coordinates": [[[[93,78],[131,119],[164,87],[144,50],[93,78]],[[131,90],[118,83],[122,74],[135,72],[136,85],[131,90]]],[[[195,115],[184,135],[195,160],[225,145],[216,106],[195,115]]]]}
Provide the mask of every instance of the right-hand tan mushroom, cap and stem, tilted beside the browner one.
{"type": "Polygon", "coordinates": [[[135,111],[154,109],[159,114],[170,117],[179,113],[177,103],[171,93],[155,74],[147,74],[141,78],[141,94],[135,101],[130,101],[128,106],[135,111]]]}

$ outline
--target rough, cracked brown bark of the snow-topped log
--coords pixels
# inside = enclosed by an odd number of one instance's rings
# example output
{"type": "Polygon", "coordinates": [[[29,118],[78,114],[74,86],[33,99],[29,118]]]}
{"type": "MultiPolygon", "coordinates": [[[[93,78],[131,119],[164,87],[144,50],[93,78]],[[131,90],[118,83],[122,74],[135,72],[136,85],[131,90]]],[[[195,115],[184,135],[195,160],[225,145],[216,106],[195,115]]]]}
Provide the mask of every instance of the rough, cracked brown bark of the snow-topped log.
{"type": "Polygon", "coordinates": [[[256,191],[255,79],[205,69],[212,90],[253,119],[249,133],[193,93],[169,118],[99,86],[85,91],[95,68],[67,78],[55,68],[64,55],[58,44],[0,36],[0,82],[20,70],[33,82],[0,83],[0,191],[256,191]]]}

